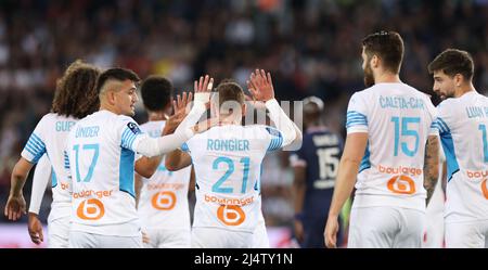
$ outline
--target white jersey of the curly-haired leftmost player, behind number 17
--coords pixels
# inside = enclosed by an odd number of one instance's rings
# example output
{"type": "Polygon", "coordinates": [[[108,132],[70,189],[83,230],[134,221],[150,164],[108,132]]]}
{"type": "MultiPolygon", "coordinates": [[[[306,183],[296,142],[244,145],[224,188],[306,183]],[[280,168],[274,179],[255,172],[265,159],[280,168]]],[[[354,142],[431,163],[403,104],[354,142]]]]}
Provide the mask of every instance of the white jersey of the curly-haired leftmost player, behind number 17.
{"type": "Polygon", "coordinates": [[[57,114],[47,114],[37,124],[36,129],[30,134],[27,144],[22,151],[22,157],[36,164],[46,153],[52,165],[52,210],[50,220],[69,216],[70,213],[61,208],[70,207],[69,180],[65,168],[64,149],[67,136],[77,119],[57,114]],[[59,210],[61,209],[61,210],[59,210]]]}

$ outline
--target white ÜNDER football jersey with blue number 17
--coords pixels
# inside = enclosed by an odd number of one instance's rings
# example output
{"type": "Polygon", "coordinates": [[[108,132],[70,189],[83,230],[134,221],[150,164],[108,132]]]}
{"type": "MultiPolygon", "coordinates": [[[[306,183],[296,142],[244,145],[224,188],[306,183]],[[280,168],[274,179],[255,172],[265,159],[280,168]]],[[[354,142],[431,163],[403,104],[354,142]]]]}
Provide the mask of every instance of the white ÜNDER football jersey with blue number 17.
{"type": "Polygon", "coordinates": [[[134,149],[146,138],[130,117],[99,111],[80,119],[66,152],[73,178],[73,231],[138,236],[134,149]]]}

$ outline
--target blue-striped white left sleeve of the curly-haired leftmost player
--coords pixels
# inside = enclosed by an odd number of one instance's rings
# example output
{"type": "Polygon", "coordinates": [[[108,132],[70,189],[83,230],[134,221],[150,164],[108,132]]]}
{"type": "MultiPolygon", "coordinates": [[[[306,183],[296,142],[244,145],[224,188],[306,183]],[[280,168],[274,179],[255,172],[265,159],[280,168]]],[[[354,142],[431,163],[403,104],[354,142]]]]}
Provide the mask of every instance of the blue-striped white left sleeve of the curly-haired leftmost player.
{"type": "Polygon", "coordinates": [[[29,163],[36,164],[46,153],[46,117],[37,124],[21,155],[29,163]]]}

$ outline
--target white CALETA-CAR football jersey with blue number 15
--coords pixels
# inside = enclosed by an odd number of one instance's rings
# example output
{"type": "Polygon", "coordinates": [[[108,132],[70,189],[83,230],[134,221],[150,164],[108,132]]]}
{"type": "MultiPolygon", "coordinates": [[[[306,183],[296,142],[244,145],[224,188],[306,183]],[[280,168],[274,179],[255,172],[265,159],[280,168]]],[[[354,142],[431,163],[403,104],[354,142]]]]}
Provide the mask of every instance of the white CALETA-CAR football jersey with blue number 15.
{"type": "Polygon", "coordinates": [[[437,130],[426,94],[406,83],[376,83],[355,93],[347,108],[348,133],[367,132],[355,207],[399,206],[425,210],[425,143],[437,130]]]}

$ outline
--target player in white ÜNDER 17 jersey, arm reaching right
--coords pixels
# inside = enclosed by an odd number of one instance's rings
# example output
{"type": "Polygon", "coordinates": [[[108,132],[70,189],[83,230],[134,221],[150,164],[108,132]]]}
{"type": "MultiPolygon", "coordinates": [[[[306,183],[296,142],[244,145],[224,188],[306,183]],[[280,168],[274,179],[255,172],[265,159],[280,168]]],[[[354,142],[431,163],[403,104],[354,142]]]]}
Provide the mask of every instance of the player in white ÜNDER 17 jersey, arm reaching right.
{"type": "MultiPolygon", "coordinates": [[[[206,83],[208,79],[206,76],[206,83]]],[[[207,123],[193,126],[196,120],[184,119],[184,128],[174,134],[151,138],[141,132],[130,117],[138,101],[138,81],[133,72],[124,68],[102,73],[97,81],[100,111],[79,120],[68,136],[66,157],[73,177],[70,247],[142,247],[134,170],[151,177],[162,154],[208,128],[207,123]],[[144,157],[134,162],[136,153],[144,157]]],[[[201,99],[208,95],[205,91],[195,94],[190,119],[206,111],[206,100],[201,99]]]]}

